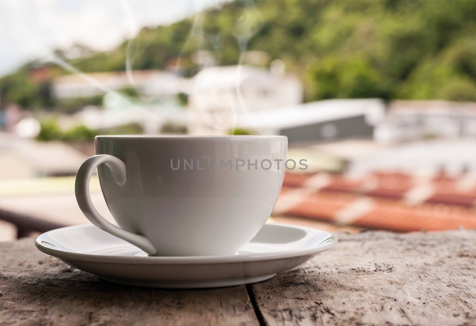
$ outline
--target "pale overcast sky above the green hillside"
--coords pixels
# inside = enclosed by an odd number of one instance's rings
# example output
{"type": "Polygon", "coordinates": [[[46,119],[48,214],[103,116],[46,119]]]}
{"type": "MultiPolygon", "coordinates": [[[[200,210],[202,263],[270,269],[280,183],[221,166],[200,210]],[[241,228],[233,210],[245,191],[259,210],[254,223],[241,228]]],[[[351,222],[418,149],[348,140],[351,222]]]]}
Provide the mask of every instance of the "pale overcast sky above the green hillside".
{"type": "Polygon", "coordinates": [[[167,25],[223,0],[1,0],[0,76],[54,48],[114,48],[144,26],[167,25]]]}

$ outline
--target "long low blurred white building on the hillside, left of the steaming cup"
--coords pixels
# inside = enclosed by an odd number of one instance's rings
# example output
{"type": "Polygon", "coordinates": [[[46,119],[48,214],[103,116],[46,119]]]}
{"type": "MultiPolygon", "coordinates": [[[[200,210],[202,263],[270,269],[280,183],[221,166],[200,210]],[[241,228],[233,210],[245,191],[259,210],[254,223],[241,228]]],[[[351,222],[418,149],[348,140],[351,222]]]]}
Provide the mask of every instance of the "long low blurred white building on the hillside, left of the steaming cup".
{"type": "Polygon", "coordinates": [[[143,96],[173,98],[180,92],[181,78],[160,70],[132,70],[71,74],[53,80],[53,94],[59,99],[100,96],[129,87],[143,96]]]}

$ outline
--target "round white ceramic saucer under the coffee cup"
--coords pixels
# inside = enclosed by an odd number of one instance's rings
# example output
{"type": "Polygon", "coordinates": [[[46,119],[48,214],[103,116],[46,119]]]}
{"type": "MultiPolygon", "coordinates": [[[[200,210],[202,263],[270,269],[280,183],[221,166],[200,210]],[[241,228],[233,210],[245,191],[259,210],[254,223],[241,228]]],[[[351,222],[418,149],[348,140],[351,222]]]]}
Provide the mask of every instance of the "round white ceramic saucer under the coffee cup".
{"type": "Polygon", "coordinates": [[[294,225],[266,224],[233,256],[149,257],[93,225],[51,230],[36,247],[105,280],[154,288],[212,288],[248,284],[294,268],[337,243],[332,234],[294,225]]]}

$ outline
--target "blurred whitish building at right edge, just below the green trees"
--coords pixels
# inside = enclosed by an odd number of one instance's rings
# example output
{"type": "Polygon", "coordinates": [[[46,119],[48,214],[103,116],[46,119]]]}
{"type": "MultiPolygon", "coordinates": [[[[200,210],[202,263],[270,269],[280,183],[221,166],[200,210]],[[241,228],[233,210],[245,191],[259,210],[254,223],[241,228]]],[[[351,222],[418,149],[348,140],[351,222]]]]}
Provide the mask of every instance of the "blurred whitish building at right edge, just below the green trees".
{"type": "Polygon", "coordinates": [[[379,142],[476,136],[476,103],[393,101],[375,131],[379,142]]]}

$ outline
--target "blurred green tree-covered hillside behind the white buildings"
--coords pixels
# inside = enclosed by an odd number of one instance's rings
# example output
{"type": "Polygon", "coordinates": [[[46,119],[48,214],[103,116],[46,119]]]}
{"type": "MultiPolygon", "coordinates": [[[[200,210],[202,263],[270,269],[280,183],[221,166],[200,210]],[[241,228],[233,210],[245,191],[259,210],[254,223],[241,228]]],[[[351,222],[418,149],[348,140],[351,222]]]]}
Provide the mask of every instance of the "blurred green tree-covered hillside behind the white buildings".
{"type": "MultiPolygon", "coordinates": [[[[234,1],[170,26],[142,29],[109,52],[69,59],[84,72],[175,67],[192,76],[194,54],[207,50],[219,65],[241,62],[244,50],[265,51],[301,78],[306,100],[346,97],[476,101],[474,0],[234,1]]],[[[0,79],[2,103],[54,108],[49,79],[31,62],[0,79]]]]}

